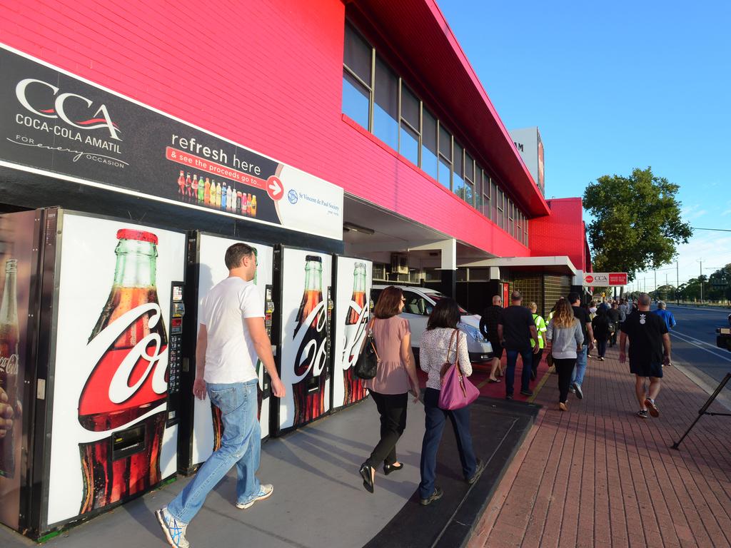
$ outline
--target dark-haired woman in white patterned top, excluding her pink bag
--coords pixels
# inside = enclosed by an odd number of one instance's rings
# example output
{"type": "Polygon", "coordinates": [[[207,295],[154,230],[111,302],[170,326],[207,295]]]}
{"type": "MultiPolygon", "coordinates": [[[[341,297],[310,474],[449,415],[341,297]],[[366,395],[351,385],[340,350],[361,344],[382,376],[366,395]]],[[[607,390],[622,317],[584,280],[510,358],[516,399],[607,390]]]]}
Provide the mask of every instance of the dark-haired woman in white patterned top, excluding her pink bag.
{"type": "Polygon", "coordinates": [[[485,463],[474,456],[472,436],[469,433],[470,406],[454,411],[439,408],[439,391],[442,388],[440,372],[442,365],[458,359],[459,368],[464,376],[472,374],[469,361],[466,335],[457,329],[460,312],[453,299],[440,299],[429,316],[426,331],[421,337],[419,347],[420,367],[428,373],[424,392],[424,411],[426,414],[426,431],[421,447],[421,483],[419,484],[420,503],[426,506],[442,497],[442,488],[435,487],[436,452],[442,441],[442,431],[447,416],[457,436],[462,473],[467,483],[473,484],[480,477],[485,463]],[[450,347],[450,340],[452,341],[450,347]]]}

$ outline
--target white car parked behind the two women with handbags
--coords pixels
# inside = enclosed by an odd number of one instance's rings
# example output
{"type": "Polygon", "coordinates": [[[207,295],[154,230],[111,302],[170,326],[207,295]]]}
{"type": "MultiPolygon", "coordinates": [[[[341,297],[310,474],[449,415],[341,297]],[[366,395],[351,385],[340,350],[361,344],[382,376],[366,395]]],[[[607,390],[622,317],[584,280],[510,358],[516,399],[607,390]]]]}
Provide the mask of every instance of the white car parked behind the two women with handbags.
{"type": "MultiPolygon", "coordinates": [[[[378,300],[379,294],[389,286],[374,285],[371,289],[371,300],[378,300]]],[[[419,286],[395,286],[404,292],[406,303],[401,316],[409,319],[409,327],[412,330],[412,349],[417,359],[419,357],[419,343],[421,335],[426,330],[426,322],[429,315],[439,299],[444,299],[447,295],[419,286]]],[[[459,330],[467,335],[467,349],[469,351],[469,359],[471,362],[486,362],[493,357],[493,347],[487,339],[482,337],[480,333],[480,316],[471,314],[461,306],[461,321],[457,324],[459,330]]]]}

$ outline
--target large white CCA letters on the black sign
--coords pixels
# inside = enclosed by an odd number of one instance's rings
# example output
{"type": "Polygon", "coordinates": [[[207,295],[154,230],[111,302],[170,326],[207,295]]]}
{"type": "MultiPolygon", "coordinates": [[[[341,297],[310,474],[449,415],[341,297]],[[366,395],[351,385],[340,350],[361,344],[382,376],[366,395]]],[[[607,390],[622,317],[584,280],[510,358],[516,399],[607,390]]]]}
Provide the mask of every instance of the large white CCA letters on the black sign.
{"type": "Polygon", "coordinates": [[[93,110],[96,105],[94,105],[94,102],[91,101],[91,99],[87,99],[79,94],[72,94],[68,92],[59,94],[59,91],[61,91],[61,89],[57,88],[56,85],[44,82],[43,80],[38,80],[37,78],[24,78],[15,86],[15,96],[18,97],[18,102],[20,102],[23,107],[26,107],[26,109],[31,113],[44,118],[61,118],[61,120],[68,123],[69,126],[74,126],[78,129],[106,128],[112,139],[121,141],[121,138],[119,137],[119,126],[112,121],[105,104],[99,105],[93,115],[87,114],[83,116],[72,116],[67,108],[67,102],[69,102],[69,100],[75,102],[72,110],[77,112],[79,110],[79,103],[86,104],[86,107],[82,107],[82,110],[88,111],[89,113],[91,113],[91,110],[93,110]],[[52,92],[48,98],[48,104],[43,105],[46,108],[34,107],[29,101],[28,88],[31,85],[34,87],[42,85],[52,92]],[[53,104],[53,107],[50,107],[51,104],[53,104]]]}

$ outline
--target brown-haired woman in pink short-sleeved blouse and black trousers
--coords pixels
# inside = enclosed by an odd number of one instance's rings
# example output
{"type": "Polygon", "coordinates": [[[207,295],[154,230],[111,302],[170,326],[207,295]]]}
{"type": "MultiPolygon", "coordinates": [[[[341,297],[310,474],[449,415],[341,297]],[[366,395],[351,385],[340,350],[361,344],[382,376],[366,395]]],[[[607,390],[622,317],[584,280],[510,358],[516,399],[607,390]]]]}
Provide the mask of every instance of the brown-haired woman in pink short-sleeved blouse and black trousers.
{"type": "Polygon", "coordinates": [[[373,310],[374,319],[369,328],[373,332],[380,359],[376,376],[366,381],[366,388],[381,415],[381,440],[371,456],[360,466],[363,487],[374,491],[376,468],[383,463],[386,475],[401,470],[404,465],[396,460],[396,442],[406,427],[406,407],[409,392],[419,400],[419,379],[411,349],[409,320],[400,318],[404,309],[401,289],[389,286],[383,290],[373,310]]]}

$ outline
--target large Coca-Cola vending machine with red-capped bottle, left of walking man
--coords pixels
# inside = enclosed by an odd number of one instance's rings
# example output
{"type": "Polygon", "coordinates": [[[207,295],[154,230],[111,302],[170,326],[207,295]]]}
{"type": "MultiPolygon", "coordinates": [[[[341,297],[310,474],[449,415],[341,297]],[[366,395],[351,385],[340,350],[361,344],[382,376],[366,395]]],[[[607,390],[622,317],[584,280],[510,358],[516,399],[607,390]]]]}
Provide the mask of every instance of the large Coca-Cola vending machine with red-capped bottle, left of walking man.
{"type": "Polygon", "coordinates": [[[37,218],[20,509],[34,538],[175,475],[186,253],[183,232],[58,208],[37,218]]]}

